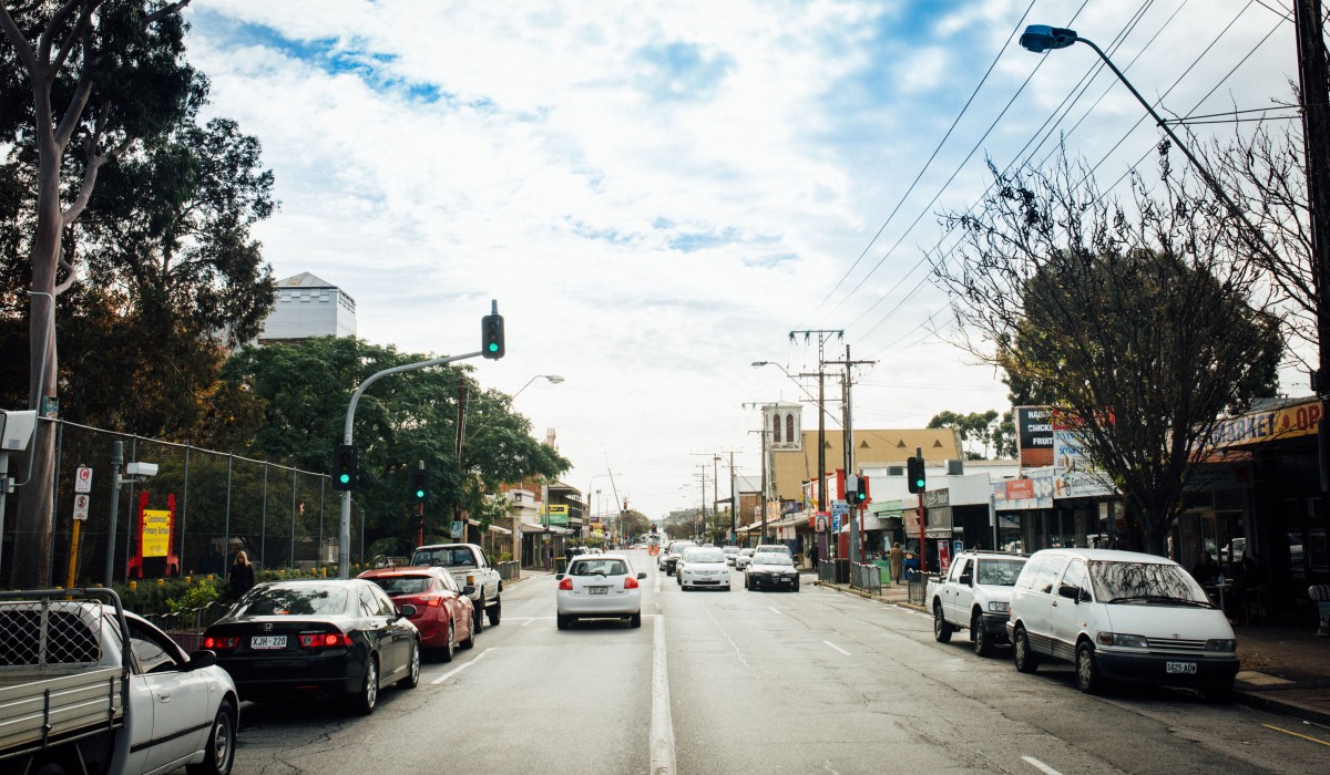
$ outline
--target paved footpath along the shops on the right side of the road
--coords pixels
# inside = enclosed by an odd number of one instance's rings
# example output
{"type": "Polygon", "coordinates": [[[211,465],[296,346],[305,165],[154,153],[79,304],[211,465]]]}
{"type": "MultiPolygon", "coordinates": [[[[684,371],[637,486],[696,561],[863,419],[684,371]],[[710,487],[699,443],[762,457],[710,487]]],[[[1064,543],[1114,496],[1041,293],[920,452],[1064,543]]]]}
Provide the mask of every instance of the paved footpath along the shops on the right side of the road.
{"type": "MultiPolygon", "coordinates": [[[[805,569],[806,584],[834,589],[864,600],[928,613],[910,602],[904,584],[883,586],[870,593],[846,584],[817,581],[805,569]]],[[[1234,685],[1234,702],[1289,715],[1330,727],[1330,638],[1317,637],[1315,625],[1233,625],[1238,638],[1241,670],[1234,685]]]]}

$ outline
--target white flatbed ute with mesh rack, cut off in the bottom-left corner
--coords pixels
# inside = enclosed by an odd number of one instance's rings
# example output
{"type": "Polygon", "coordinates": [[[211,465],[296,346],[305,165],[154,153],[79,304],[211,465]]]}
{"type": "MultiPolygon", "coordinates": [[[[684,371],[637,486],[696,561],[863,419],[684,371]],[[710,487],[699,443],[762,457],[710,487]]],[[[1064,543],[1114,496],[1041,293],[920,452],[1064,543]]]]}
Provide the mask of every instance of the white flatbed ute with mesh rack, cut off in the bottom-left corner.
{"type": "Polygon", "coordinates": [[[186,657],[113,590],[0,593],[0,771],[227,775],[237,728],[217,655],[186,657]]]}

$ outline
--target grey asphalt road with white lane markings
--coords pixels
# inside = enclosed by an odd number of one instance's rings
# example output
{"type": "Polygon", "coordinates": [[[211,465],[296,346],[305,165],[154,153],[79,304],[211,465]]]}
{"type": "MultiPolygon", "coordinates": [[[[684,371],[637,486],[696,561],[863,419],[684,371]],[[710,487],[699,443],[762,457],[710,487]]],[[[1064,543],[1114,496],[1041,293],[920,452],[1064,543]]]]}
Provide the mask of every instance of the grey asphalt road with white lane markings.
{"type": "MultiPolygon", "coordinates": [[[[555,581],[504,592],[471,651],[371,717],[246,703],[237,774],[1323,772],[1330,730],[1198,694],[1080,694],[964,633],[817,586],[684,593],[648,572],[644,622],[555,627],[555,581]]],[[[807,581],[807,577],[805,578],[807,581]]]]}

